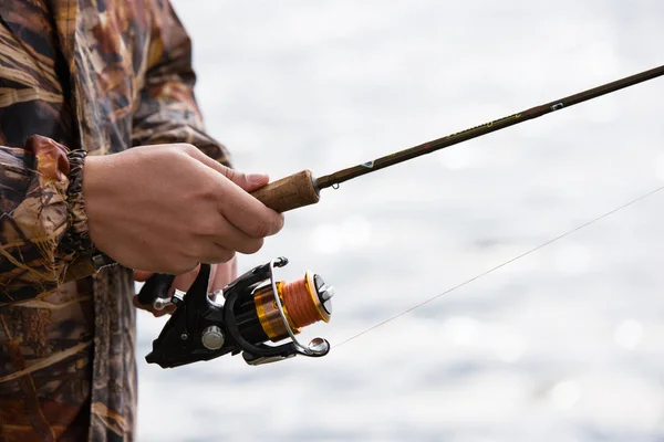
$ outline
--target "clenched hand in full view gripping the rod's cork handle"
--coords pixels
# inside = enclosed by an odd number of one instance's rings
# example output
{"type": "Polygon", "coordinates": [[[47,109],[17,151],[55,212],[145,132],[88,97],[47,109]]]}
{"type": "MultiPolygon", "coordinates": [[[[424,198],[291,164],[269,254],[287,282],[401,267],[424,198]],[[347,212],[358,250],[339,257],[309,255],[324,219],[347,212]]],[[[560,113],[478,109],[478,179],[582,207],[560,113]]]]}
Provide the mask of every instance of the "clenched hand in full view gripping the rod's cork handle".
{"type": "Polygon", "coordinates": [[[91,156],[83,177],[90,236],[126,267],[174,275],[256,253],[283,227],[281,214],[248,193],[268,180],[190,145],[91,156]]]}

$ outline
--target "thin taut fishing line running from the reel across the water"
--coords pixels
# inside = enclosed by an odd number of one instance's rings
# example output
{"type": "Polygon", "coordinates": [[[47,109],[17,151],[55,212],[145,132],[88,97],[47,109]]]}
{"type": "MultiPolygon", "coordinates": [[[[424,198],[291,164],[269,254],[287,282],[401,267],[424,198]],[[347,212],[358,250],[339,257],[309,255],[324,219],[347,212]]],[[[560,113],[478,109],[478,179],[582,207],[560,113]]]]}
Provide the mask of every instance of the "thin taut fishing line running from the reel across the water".
{"type": "Polygon", "coordinates": [[[437,298],[439,298],[439,297],[440,297],[440,296],[443,296],[443,295],[447,295],[448,293],[452,293],[452,292],[456,291],[457,288],[460,288],[460,287],[463,287],[463,286],[465,286],[465,285],[468,285],[468,284],[470,284],[471,282],[474,282],[474,281],[477,281],[477,280],[479,280],[480,277],[483,277],[483,276],[486,276],[486,275],[488,275],[489,273],[492,273],[492,272],[497,271],[498,269],[505,267],[506,265],[508,265],[508,264],[511,264],[511,263],[513,263],[515,261],[518,261],[518,260],[520,260],[521,257],[528,256],[529,254],[531,254],[531,253],[533,253],[533,252],[537,252],[538,250],[541,250],[541,249],[546,248],[547,245],[549,245],[549,244],[552,244],[552,243],[557,242],[558,240],[561,240],[561,239],[563,239],[563,238],[566,238],[566,236],[568,236],[568,235],[570,235],[570,234],[572,234],[572,233],[574,233],[574,232],[578,232],[578,231],[579,231],[579,230],[581,230],[581,229],[584,229],[584,228],[587,228],[587,227],[589,227],[589,225],[591,225],[591,224],[594,224],[595,222],[598,222],[598,221],[600,221],[600,220],[602,220],[602,219],[604,219],[604,218],[606,218],[606,217],[609,217],[609,215],[611,215],[611,214],[613,214],[613,213],[615,213],[615,212],[619,212],[619,211],[621,211],[622,209],[625,209],[625,208],[627,208],[627,207],[630,207],[630,206],[632,206],[632,204],[634,204],[634,203],[636,203],[636,202],[639,202],[639,201],[642,201],[642,200],[646,199],[647,197],[651,197],[651,196],[653,196],[653,194],[657,193],[657,192],[658,192],[660,190],[662,190],[662,189],[664,189],[664,186],[662,186],[662,187],[658,187],[658,188],[656,188],[655,190],[652,190],[652,191],[650,191],[650,192],[647,192],[647,193],[645,193],[645,194],[642,194],[641,197],[639,197],[639,198],[636,198],[636,199],[633,199],[633,200],[631,200],[630,202],[626,202],[626,203],[624,203],[624,204],[622,204],[622,206],[620,206],[620,207],[618,207],[618,208],[615,208],[615,209],[613,209],[613,210],[611,210],[611,211],[609,211],[609,212],[605,212],[605,213],[603,213],[603,214],[601,214],[601,215],[599,215],[599,217],[596,217],[596,218],[594,218],[594,219],[592,219],[592,220],[590,220],[590,221],[588,221],[588,222],[585,222],[585,223],[583,223],[583,224],[581,224],[581,225],[578,225],[578,227],[575,227],[574,229],[572,229],[572,230],[569,230],[569,231],[567,231],[567,232],[564,232],[564,233],[562,233],[562,234],[560,234],[560,235],[558,235],[558,236],[556,236],[556,238],[553,238],[553,239],[551,239],[551,240],[547,241],[547,242],[543,242],[543,243],[541,243],[540,245],[538,245],[538,246],[536,246],[536,248],[533,248],[533,249],[530,249],[530,250],[529,250],[529,251],[527,251],[527,252],[523,252],[523,253],[521,253],[521,254],[519,254],[519,255],[517,255],[517,256],[515,256],[515,257],[511,257],[511,259],[509,259],[509,260],[507,260],[507,261],[502,262],[501,264],[498,264],[498,265],[496,265],[495,267],[491,267],[491,269],[487,270],[486,272],[483,272],[483,273],[480,273],[480,274],[477,274],[477,275],[473,276],[471,278],[469,278],[469,280],[466,280],[466,281],[464,281],[463,283],[460,283],[460,284],[458,284],[458,285],[455,285],[455,286],[454,286],[454,287],[452,287],[452,288],[448,288],[448,290],[446,290],[445,292],[440,293],[439,295],[436,295],[436,296],[434,296],[434,297],[430,297],[430,298],[428,298],[428,299],[426,299],[426,301],[424,301],[424,302],[422,302],[422,303],[419,303],[419,304],[416,304],[416,305],[414,305],[413,307],[411,307],[411,308],[407,308],[407,309],[405,309],[405,311],[403,311],[403,312],[401,312],[401,313],[398,313],[398,314],[396,314],[396,315],[392,316],[391,318],[387,318],[387,319],[385,319],[385,320],[383,320],[383,322],[381,322],[381,323],[378,323],[378,324],[376,324],[376,325],[374,325],[374,326],[372,326],[372,327],[370,327],[370,328],[367,328],[367,329],[365,329],[365,330],[363,330],[363,332],[360,332],[359,334],[356,334],[356,335],[354,335],[354,336],[351,336],[350,338],[347,338],[347,339],[345,339],[345,340],[341,341],[340,344],[336,344],[336,345],[335,345],[335,346],[333,346],[332,348],[341,347],[342,345],[344,345],[344,344],[347,344],[347,343],[350,343],[351,340],[353,340],[353,339],[356,339],[356,338],[359,338],[360,336],[362,336],[362,335],[365,335],[365,334],[367,334],[367,333],[370,333],[370,332],[372,332],[372,330],[375,330],[376,328],[378,328],[378,327],[382,327],[382,326],[384,326],[385,324],[387,324],[387,323],[390,323],[390,322],[392,322],[392,320],[394,320],[394,319],[396,319],[396,318],[398,318],[398,317],[401,317],[401,316],[404,316],[404,315],[406,315],[406,314],[408,314],[408,313],[413,312],[413,311],[414,311],[414,309],[416,309],[416,308],[419,308],[419,307],[422,307],[423,305],[426,305],[426,304],[428,304],[428,303],[430,303],[430,302],[433,302],[433,301],[436,301],[437,298]]]}

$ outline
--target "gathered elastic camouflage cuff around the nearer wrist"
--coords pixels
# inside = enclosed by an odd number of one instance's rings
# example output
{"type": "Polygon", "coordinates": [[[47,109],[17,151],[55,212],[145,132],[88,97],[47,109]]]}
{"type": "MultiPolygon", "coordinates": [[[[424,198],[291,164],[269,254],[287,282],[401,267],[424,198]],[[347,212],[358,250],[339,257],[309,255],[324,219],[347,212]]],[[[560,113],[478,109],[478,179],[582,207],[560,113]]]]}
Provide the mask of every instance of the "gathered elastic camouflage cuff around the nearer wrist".
{"type": "Polygon", "coordinates": [[[90,240],[87,229],[87,213],[83,200],[83,166],[85,150],[73,150],[68,154],[70,162],[69,187],[66,190],[66,206],[69,225],[68,233],[62,239],[62,249],[66,254],[87,255],[96,253],[90,240]]]}

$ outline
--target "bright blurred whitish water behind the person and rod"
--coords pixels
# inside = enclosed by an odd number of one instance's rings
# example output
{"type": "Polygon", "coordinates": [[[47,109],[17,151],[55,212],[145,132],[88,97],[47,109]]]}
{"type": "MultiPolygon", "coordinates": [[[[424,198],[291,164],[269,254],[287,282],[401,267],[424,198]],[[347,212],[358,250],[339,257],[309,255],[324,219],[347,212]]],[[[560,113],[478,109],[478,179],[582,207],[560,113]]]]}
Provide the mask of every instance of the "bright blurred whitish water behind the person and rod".
{"type": "MultiPolygon", "coordinates": [[[[324,175],[664,60],[660,0],[175,0],[208,130],[324,175]]],[[[664,185],[664,78],[326,190],[240,271],[336,286],[334,344],[664,185]]],[[[338,348],[144,356],[141,441],[664,441],[664,191],[338,348]]]]}

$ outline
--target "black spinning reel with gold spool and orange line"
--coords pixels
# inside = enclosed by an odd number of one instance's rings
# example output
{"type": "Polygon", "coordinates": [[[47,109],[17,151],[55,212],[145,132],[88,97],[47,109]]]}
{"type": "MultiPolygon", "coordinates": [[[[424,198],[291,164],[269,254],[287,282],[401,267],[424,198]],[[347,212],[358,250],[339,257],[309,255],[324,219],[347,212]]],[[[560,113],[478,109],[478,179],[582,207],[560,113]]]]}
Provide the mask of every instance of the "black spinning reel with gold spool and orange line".
{"type": "Polygon", "coordinates": [[[138,301],[157,309],[174,304],[176,309],[153,341],[147,362],[173,368],[241,352],[247,364],[256,366],[297,355],[325,356],[328,340],[314,338],[302,345],[295,335],[308,325],[330,320],[334,287],[311,272],[292,283],[277,281],[274,269],[287,264],[286,257],[272,260],[214,293],[208,292],[210,266],[200,264],[191,287],[186,293],[176,291],[170,299],[166,296],[174,276],[154,275],[138,301]],[[266,344],[286,338],[290,341],[266,344]]]}

